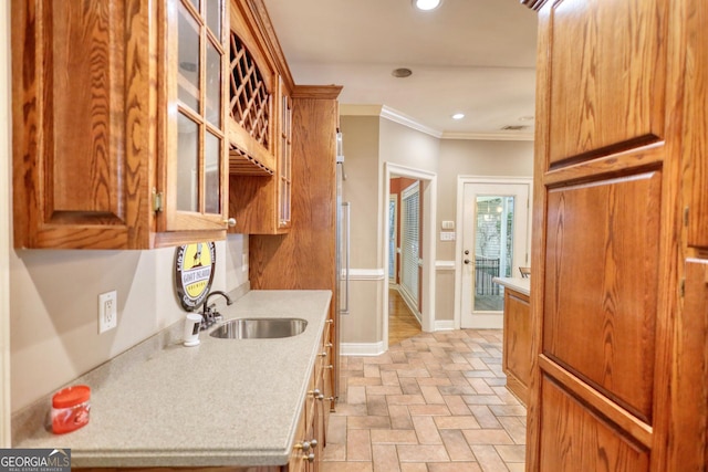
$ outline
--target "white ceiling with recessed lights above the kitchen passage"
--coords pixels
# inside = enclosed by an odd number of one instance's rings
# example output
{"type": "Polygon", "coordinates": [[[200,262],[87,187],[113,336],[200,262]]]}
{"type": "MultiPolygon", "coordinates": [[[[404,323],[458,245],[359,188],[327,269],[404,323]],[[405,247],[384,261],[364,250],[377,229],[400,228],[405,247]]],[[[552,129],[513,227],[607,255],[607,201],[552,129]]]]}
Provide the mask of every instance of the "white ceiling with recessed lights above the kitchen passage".
{"type": "Polygon", "coordinates": [[[264,0],[296,84],[383,105],[441,137],[533,135],[537,13],[519,0],[264,0]],[[392,71],[413,75],[396,78],[392,71]],[[450,116],[462,112],[459,122],[450,116]],[[521,132],[504,126],[529,126],[521,132]]]}

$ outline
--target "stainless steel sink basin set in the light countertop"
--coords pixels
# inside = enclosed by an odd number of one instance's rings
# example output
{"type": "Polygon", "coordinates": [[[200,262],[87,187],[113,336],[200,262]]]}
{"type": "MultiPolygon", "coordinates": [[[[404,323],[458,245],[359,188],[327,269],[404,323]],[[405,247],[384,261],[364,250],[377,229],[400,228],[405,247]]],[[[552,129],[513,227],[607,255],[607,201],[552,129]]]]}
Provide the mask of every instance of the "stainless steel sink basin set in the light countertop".
{"type": "Polygon", "coordinates": [[[296,336],[308,326],[302,318],[236,318],[225,322],[209,336],[223,339],[273,339],[296,336]]]}

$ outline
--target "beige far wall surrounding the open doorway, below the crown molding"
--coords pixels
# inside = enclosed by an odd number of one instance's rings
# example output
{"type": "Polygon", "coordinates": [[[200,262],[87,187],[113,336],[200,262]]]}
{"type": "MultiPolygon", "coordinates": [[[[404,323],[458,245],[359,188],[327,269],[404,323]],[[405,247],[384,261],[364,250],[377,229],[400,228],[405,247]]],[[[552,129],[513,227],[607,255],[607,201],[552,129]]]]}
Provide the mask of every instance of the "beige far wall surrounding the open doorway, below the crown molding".
{"type": "MultiPolygon", "coordinates": [[[[438,139],[379,116],[342,116],[344,154],[348,179],[345,200],[352,201],[352,268],[383,271],[382,228],[385,196],[384,162],[388,161],[437,175],[436,233],[444,220],[457,218],[458,176],[531,177],[533,143],[511,140],[438,139]]],[[[439,241],[436,259],[436,322],[451,326],[455,317],[455,241],[439,241]]],[[[354,281],[357,300],[343,319],[343,343],[381,343],[384,313],[382,300],[387,281],[354,281]],[[378,305],[377,305],[378,303],[378,305]]]]}

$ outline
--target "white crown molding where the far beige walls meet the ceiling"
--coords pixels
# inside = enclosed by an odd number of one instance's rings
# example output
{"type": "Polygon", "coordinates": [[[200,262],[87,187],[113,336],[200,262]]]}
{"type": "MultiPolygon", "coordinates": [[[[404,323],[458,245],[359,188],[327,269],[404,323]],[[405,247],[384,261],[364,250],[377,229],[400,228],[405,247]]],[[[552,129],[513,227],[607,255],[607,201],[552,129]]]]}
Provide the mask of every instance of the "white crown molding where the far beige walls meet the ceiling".
{"type": "Polygon", "coordinates": [[[400,113],[386,105],[352,105],[340,104],[341,116],[378,116],[386,118],[391,122],[398,123],[410,129],[416,129],[420,133],[425,133],[438,139],[470,139],[470,140],[519,140],[519,141],[532,141],[533,133],[444,133],[437,129],[425,126],[416,122],[410,116],[400,113]]]}

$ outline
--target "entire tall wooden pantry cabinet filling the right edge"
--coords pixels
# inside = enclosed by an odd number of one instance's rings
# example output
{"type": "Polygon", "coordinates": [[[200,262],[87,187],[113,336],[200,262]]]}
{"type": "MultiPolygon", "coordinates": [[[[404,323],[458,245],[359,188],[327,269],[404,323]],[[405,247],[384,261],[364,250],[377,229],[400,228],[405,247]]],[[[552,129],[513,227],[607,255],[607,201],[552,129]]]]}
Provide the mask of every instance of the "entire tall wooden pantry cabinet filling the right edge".
{"type": "Polygon", "coordinates": [[[708,3],[538,10],[528,471],[705,471],[708,3]]]}

